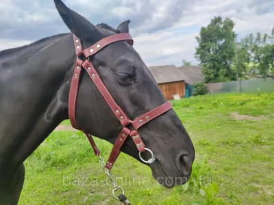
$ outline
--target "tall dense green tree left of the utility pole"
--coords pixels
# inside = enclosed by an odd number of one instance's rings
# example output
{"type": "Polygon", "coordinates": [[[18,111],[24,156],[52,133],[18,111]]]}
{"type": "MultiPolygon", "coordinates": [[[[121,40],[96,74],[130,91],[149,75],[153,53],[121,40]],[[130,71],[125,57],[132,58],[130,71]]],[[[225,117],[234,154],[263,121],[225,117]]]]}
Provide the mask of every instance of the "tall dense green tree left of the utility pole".
{"type": "Polygon", "coordinates": [[[220,82],[236,80],[236,74],[232,70],[232,62],[235,56],[233,31],[234,23],[231,19],[215,16],[207,27],[201,27],[195,57],[201,62],[201,70],[205,82],[220,82]]]}

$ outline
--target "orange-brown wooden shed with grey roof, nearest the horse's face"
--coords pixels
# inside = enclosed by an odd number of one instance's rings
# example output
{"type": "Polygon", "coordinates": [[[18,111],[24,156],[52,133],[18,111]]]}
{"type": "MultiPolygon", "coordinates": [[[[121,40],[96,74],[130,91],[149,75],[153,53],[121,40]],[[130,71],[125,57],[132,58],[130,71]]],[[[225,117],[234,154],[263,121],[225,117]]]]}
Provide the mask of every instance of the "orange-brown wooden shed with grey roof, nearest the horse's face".
{"type": "Polygon", "coordinates": [[[151,66],[151,74],[162,90],[167,100],[172,100],[173,95],[179,94],[180,98],[186,96],[185,82],[187,78],[180,68],[176,66],[151,66]]]}

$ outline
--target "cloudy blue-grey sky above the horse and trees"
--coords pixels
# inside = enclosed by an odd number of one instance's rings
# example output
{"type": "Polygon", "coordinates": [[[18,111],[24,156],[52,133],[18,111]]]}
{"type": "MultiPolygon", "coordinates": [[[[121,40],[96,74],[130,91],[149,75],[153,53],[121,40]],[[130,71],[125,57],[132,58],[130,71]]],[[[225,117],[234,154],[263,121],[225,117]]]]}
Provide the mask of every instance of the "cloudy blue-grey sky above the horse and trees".
{"type": "MultiPolygon", "coordinates": [[[[231,18],[238,40],[249,33],[271,33],[273,0],[64,0],[91,23],[116,28],[130,20],[134,48],[147,66],[198,64],[195,47],[201,27],[214,16],[231,18]]],[[[1,0],[0,51],[69,32],[53,0],[1,0]]]]}

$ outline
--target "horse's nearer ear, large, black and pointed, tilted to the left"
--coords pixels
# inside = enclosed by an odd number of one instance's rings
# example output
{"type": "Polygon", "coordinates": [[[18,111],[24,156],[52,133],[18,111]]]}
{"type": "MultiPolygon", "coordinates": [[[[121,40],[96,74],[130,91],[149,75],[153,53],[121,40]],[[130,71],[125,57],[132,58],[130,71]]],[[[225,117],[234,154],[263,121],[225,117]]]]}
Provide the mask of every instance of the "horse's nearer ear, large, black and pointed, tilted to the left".
{"type": "Polygon", "coordinates": [[[81,40],[101,36],[101,32],[92,25],[89,20],[78,14],[77,12],[66,7],[61,0],[54,0],[55,7],[58,10],[62,20],[75,36],[81,40]]]}

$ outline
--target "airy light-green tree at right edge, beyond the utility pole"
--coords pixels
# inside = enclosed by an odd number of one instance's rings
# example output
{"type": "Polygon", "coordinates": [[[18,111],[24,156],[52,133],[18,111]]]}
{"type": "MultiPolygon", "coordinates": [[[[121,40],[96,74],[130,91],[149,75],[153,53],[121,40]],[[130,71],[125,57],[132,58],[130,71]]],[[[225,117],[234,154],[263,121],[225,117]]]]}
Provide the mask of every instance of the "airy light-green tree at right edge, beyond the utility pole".
{"type": "Polygon", "coordinates": [[[241,41],[241,50],[245,53],[250,77],[271,77],[274,79],[274,27],[271,35],[258,32],[246,36],[241,41]]]}

